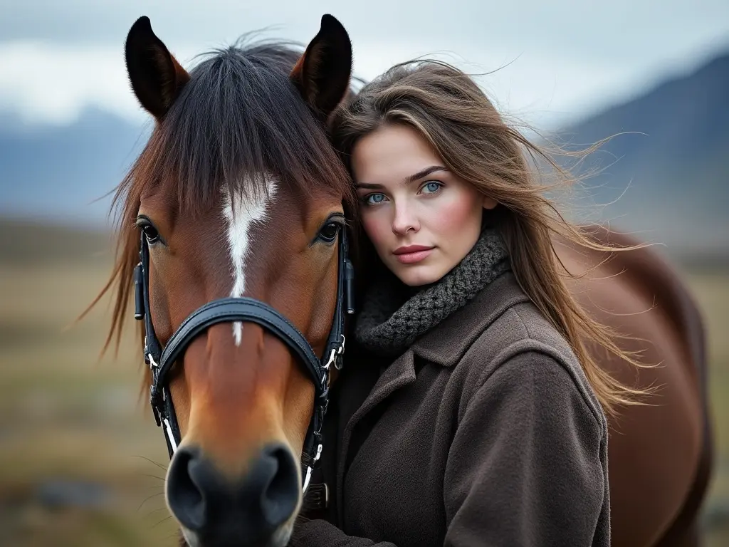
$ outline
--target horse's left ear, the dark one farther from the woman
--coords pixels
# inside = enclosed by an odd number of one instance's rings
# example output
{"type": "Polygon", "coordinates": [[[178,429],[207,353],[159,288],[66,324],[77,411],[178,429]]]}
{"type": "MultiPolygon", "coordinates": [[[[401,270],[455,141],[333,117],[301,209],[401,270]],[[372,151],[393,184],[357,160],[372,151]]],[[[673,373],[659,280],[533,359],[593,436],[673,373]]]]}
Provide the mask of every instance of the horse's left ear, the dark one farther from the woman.
{"type": "Polygon", "coordinates": [[[139,104],[161,120],[190,81],[190,74],[157,38],[147,16],[137,19],[129,29],[125,57],[129,81],[139,104]]]}

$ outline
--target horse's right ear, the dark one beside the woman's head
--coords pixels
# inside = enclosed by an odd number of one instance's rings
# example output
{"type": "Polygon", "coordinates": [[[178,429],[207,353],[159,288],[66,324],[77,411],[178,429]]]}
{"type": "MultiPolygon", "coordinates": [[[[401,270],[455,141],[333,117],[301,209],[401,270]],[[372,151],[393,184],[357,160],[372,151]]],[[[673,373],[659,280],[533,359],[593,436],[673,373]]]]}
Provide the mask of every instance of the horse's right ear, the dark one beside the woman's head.
{"type": "Polygon", "coordinates": [[[348,92],[351,71],[352,44],[347,31],[332,15],[324,15],[319,33],[291,71],[291,80],[304,100],[327,120],[348,92]]]}

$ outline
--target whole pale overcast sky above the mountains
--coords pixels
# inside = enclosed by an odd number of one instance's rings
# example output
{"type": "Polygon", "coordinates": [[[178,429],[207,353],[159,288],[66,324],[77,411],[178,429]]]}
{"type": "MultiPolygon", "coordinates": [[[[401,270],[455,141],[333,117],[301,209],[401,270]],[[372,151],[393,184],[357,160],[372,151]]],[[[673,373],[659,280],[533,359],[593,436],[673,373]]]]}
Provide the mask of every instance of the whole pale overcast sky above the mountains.
{"type": "Polygon", "coordinates": [[[469,71],[504,67],[480,83],[544,128],[729,51],[729,0],[0,0],[0,113],[68,123],[98,106],[144,120],[123,58],[140,15],[189,67],[256,29],[308,42],[324,13],[347,28],[356,74],[433,53],[469,71]]]}

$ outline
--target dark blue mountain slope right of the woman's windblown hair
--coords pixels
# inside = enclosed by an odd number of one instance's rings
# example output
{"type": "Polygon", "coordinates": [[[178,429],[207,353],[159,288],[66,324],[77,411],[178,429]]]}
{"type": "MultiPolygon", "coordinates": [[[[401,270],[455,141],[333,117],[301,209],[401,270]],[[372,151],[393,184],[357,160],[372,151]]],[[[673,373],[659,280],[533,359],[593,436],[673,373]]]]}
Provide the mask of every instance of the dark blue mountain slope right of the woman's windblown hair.
{"type": "Polygon", "coordinates": [[[577,173],[623,230],[677,253],[729,253],[729,53],[559,131],[575,147],[610,138],[577,173]]]}

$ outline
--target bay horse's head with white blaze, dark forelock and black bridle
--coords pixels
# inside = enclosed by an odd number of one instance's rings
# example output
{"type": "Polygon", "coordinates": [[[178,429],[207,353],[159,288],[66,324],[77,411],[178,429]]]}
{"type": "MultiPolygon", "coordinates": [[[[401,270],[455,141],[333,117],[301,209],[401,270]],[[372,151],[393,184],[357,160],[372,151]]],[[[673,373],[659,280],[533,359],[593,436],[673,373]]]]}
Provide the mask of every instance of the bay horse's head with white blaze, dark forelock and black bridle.
{"type": "Polygon", "coordinates": [[[352,311],[356,201],[327,133],[350,92],[351,42],[324,15],[303,52],[236,43],[187,71],[141,17],[125,61],[154,128],[114,195],[106,344],[133,300],[184,541],[282,547],[352,311]]]}

